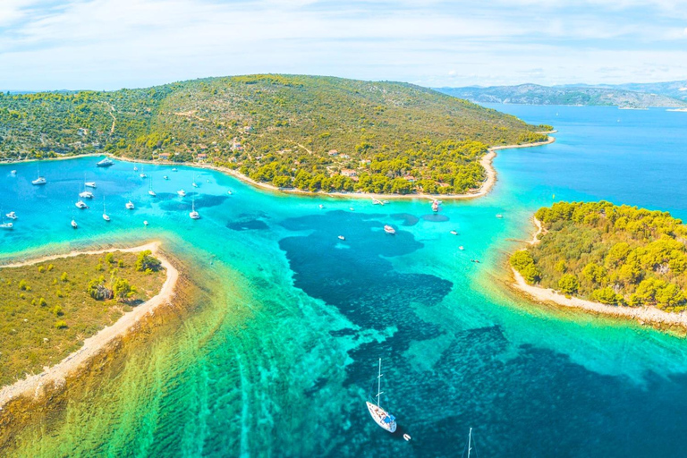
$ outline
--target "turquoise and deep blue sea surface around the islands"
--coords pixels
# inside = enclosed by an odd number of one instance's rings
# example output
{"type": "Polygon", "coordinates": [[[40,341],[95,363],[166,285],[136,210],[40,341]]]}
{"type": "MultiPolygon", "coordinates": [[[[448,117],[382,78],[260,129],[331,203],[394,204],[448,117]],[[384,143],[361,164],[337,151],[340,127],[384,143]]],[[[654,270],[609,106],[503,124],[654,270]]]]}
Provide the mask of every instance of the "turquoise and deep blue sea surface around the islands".
{"type": "Polygon", "coordinates": [[[494,190],[438,215],[426,199],[280,195],[185,166],[145,165],[151,198],[131,163],[41,163],[45,186],[36,163],[0,165],[0,208],[19,216],[0,259],[159,239],[202,291],[181,326],[115,354],[7,454],[461,456],[473,428],[482,457],[685,456],[687,342],[531,304],[506,259],[555,200],[687,217],[687,114],[492,107],[553,124],[556,142],[500,151],[494,190]],[[98,188],[79,210],[84,181],[98,188]],[[365,406],[379,358],[394,435],[365,406]]]}

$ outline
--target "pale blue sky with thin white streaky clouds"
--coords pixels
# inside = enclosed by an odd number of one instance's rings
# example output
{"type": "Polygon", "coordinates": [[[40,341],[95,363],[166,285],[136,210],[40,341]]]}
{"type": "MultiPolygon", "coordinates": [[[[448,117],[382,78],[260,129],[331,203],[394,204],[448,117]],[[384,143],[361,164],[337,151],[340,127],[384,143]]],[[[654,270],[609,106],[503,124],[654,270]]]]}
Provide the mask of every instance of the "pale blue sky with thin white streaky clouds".
{"type": "Polygon", "coordinates": [[[423,86],[687,79],[687,0],[0,0],[0,89],[284,72],[423,86]]]}

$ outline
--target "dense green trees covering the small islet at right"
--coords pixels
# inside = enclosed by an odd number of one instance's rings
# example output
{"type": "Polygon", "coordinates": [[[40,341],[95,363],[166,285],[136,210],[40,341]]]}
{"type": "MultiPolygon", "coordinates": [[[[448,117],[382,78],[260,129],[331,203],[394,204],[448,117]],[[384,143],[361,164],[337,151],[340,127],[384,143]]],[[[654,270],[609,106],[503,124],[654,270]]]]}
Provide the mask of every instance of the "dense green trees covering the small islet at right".
{"type": "Polygon", "coordinates": [[[558,202],[535,216],[540,242],[511,257],[529,284],[627,306],[684,310],[687,226],[667,212],[558,202]]]}

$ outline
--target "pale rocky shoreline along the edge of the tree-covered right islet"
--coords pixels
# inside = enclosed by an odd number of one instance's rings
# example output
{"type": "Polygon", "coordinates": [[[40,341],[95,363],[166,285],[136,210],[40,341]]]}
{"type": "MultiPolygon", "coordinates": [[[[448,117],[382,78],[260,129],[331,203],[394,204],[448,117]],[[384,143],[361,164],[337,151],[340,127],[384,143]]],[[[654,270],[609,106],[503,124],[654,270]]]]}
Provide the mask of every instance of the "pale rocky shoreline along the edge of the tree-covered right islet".
{"type": "MultiPolygon", "coordinates": [[[[539,233],[544,232],[543,226],[537,220],[533,218],[535,225],[537,225],[537,231],[534,233],[532,240],[528,242],[530,245],[535,245],[539,243],[537,236],[539,233]]],[[[590,313],[596,313],[598,315],[604,315],[612,318],[623,318],[635,320],[642,326],[652,326],[657,327],[661,330],[666,330],[666,327],[680,327],[683,331],[687,331],[687,313],[685,312],[667,312],[665,310],[660,310],[655,307],[627,307],[627,306],[614,306],[602,304],[601,302],[588,301],[578,297],[566,297],[564,294],[557,293],[553,289],[546,289],[540,286],[535,286],[532,284],[527,284],[525,279],[522,277],[520,272],[511,267],[513,272],[514,282],[513,287],[520,293],[524,293],[528,296],[528,299],[539,301],[542,303],[555,303],[558,306],[563,306],[566,308],[573,308],[577,310],[584,310],[590,313]]]]}

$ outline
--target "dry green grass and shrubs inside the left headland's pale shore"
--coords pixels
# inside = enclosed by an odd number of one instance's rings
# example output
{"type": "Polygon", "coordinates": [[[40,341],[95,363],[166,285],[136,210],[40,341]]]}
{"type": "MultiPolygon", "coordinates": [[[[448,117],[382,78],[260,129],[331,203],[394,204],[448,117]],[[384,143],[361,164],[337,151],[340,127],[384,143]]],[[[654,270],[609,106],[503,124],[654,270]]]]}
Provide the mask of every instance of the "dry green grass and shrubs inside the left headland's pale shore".
{"type": "Polygon", "coordinates": [[[166,275],[151,259],[117,251],[0,268],[0,386],[63,360],[154,296],[166,275]]]}

